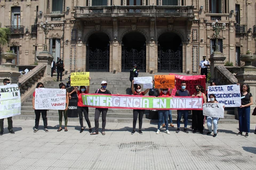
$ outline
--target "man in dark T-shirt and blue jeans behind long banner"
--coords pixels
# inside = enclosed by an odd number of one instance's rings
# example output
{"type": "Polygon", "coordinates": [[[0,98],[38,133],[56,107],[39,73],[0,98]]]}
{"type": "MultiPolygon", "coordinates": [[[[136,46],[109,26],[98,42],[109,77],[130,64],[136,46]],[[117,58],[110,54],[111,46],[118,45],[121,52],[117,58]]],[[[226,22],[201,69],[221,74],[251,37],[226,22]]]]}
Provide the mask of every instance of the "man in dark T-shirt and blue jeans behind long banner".
{"type": "MultiPolygon", "coordinates": [[[[181,89],[176,91],[175,96],[190,96],[189,91],[186,90],[186,82],[185,81],[181,82],[181,89]]],[[[179,133],[179,131],[180,131],[182,114],[184,117],[184,132],[189,133],[189,131],[187,130],[187,122],[188,122],[187,117],[188,117],[189,111],[188,110],[177,110],[177,114],[178,114],[178,117],[177,117],[176,133],[179,133]]]]}

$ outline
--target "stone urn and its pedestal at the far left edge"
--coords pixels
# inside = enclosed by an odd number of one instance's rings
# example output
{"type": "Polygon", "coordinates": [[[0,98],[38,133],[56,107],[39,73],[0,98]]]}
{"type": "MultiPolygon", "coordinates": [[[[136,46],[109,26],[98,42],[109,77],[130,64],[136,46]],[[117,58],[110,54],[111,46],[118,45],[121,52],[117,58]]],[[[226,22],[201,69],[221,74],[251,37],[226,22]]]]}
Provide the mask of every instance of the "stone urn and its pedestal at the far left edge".
{"type": "Polygon", "coordinates": [[[2,53],[1,57],[6,59],[6,63],[0,65],[0,85],[3,85],[3,79],[10,79],[11,84],[17,84],[19,81],[19,68],[11,63],[16,58],[15,53],[2,53]]]}

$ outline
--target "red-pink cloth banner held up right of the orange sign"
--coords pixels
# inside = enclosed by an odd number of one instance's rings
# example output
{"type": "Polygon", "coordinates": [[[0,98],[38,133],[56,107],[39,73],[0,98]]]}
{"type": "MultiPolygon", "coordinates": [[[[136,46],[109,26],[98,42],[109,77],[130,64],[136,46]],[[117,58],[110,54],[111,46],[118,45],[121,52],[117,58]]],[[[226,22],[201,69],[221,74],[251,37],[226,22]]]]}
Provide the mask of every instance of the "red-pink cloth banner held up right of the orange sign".
{"type": "Polygon", "coordinates": [[[200,84],[203,86],[203,89],[206,90],[206,84],[205,84],[205,75],[178,75],[178,74],[171,74],[174,75],[176,79],[175,88],[171,92],[172,95],[175,95],[176,91],[181,89],[181,82],[186,82],[186,89],[189,91],[190,95],[193,95],[195,91],[195,86],[197,84],[200,84]]]}

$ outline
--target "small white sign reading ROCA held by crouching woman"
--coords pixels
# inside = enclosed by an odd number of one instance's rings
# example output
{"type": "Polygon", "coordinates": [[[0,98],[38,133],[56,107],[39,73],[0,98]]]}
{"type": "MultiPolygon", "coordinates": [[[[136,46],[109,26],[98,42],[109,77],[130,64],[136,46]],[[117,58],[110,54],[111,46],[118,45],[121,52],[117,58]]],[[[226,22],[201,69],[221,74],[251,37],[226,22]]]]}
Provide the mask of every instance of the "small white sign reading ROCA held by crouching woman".
{"type": "Polygon", "coordinates": [[[222,103],[204,103],[203,115],[210,117],[224,117],[224,108],[222,103]]]}

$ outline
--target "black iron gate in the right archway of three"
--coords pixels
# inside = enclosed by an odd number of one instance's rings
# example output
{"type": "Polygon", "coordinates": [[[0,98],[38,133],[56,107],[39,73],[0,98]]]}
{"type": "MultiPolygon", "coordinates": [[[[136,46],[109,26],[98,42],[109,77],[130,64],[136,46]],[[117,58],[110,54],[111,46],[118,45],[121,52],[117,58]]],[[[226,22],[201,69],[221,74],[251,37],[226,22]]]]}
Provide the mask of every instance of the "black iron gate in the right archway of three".
{"type": "Polygon", "coordinates": [[[181,64],[182,55],[180,50],[177,50],[176,52],[173,50],[167,50],[166,52],[163,50],[158,51],[158,72],[181,73],[181,64]]]}

